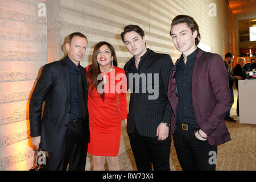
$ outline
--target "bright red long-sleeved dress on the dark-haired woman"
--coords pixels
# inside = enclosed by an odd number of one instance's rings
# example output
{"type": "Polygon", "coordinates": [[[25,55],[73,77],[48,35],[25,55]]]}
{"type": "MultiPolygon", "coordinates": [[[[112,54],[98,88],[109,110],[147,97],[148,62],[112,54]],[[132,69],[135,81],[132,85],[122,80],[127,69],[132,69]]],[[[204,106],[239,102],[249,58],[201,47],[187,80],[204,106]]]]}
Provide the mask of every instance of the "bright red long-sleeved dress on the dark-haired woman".
{"type": "Polygon", "coordinates": [[[96,89],[92,94],[88,94],[90,127],[88,152],[98,156],[117,156],[122,120],[127,119],[127,81],[125,71],[118,67],[114,67],[109,73],[101,74],[106,78],[104,101],[96,89]]]}

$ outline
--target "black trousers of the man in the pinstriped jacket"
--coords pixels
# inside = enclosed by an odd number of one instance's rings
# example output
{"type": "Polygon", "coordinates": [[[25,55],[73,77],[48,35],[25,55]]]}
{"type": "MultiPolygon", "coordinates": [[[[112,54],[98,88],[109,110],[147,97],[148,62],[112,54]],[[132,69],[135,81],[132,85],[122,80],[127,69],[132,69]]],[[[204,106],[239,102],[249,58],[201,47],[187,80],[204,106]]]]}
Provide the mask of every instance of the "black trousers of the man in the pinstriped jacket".
{"type": "Polygon", "coordinates": [[[161,141],[157,137],[144,137],[134,129],[128,134],[138,171],[170,171],[171,135],[161,141]]]}

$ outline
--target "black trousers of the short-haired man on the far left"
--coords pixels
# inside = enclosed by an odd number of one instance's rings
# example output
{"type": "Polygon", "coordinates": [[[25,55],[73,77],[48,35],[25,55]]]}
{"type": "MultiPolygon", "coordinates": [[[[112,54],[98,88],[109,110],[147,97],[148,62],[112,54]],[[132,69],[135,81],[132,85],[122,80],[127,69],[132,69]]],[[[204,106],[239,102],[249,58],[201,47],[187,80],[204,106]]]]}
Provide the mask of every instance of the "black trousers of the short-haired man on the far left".
{"type": "Polygon", "coordinates": [[[81,119],[69,123],[65,135],[65,143],[59,150],[49,152],[49,171],[65,171],[69,163],[69,171],[84,171],[88,143],[84,137],[84,125],[81,119]]]}

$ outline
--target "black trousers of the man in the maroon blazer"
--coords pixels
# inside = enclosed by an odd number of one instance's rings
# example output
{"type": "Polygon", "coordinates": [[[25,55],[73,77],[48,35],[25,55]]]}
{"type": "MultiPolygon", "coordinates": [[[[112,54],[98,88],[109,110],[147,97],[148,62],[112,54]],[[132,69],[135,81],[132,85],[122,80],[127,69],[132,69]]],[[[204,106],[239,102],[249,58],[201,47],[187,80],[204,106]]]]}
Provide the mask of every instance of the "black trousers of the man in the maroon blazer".
{"type": "MultiPolygon", "coordinates": [[[[174,147],[177,158],[183,171],[214,171],[214,154],[217,158],[217,146],[211,146],[207,140],[199,140],[195,131],[185,131],[177,127],[174,138],[174,147]]],[[[216,160],[215,160],[216,161],[216,160]]]]}

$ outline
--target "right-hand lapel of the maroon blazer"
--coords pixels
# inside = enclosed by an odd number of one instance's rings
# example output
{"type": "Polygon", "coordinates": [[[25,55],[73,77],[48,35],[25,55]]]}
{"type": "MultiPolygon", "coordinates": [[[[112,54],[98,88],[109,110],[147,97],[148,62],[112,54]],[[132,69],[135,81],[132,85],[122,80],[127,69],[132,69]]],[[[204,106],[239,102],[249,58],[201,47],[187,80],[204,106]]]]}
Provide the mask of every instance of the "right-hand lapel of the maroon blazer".
{"type": "Polygon", "coordinates": [[[198,80],[198,72],[200,71],[200,65],[201,62],[203,61],[203,55],[204,51],[202,51],[199,48],[199,51],[197,52],[196,55],[196,60],[195,60],[195,64],[194,64],[194,68],[193,68],[193,75],[192,75],[192,96],[193,93],[195,93],[195,85],[196,85],[196,81],[198,80]]]}

